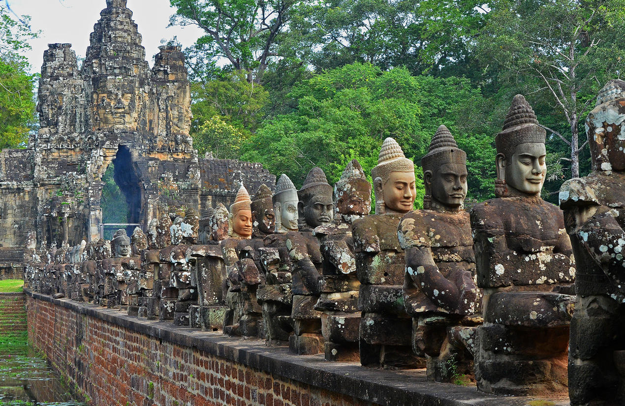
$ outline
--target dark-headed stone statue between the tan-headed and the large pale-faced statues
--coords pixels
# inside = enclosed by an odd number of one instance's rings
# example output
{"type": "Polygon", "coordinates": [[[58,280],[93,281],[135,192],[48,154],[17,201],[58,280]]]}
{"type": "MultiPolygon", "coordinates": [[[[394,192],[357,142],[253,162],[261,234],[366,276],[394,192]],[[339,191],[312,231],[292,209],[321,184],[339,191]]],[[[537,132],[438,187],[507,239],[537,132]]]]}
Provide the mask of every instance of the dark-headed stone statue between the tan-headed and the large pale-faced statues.
{"type": "Polygon", "coordinates": [[[412,350],[427,359],[427,379],[451,382],[454,375],[473,372],[472,348],[454,339],[474,340],[481,322],[471,224],[464,211],[466,154],[440,126],[421,165],[424,209],[409,212],[399,223],[399,242],[406,251],[404,307],[412,316],[412,350]]]}

